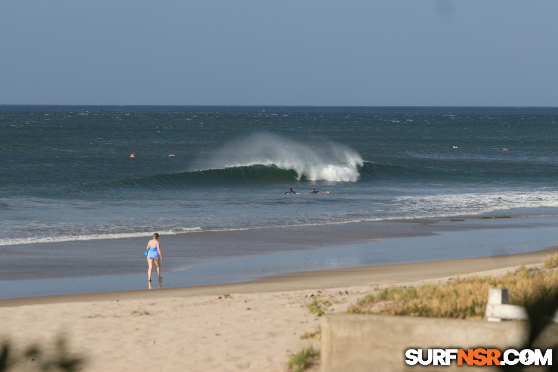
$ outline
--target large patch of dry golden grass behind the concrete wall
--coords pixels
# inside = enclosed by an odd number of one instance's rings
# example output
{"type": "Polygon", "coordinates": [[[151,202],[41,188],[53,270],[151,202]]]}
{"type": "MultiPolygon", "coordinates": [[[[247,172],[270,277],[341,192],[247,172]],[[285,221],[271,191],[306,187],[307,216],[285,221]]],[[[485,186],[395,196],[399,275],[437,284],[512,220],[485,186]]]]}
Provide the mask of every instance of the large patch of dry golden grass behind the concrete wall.
{"type": "Polygon", "coordinates": [[[365,295],[349,313],[485,319],[488,290],[507,288],[509,303],[529,307],[558,293],[558,271],[524,267],[503,276],[457,277],[445,284],[392,286],[365,295]]]}

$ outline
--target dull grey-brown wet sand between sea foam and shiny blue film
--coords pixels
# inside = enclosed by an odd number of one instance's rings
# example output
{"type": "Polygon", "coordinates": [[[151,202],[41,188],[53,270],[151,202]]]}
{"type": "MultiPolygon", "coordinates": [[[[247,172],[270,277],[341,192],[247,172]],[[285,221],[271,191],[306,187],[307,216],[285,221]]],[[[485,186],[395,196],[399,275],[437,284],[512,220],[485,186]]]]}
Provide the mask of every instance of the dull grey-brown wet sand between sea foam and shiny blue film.
{"type": "MultiPolygon", "coordinates": [[[[424,222],[357,222],[342,225],[288,226],[235,231],[162,235],[167,271],[219,259],[365,245],[376,239],[435,235],[420,231],[424,222]]],[[[13,262],[0,280],[75,278],[145,272],[145,237],[60,241],[3,246],[13,262]]]]}

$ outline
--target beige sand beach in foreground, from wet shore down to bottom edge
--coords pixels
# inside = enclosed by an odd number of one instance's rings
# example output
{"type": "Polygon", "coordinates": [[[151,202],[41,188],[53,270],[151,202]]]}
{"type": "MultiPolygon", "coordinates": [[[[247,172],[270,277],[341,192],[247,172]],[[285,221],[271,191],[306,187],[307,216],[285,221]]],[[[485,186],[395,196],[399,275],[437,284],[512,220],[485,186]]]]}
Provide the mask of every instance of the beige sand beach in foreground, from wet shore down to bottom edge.
{"type": "Polygon", "coordinates": [[[286,371],[287,354],[315,342],[300,339],[320,323],[306,308],[315,298],[342,312],[377,286],[501,274],[541,263],[555,251],[312,271],[208,287],[2,300],[1,333],[18,351],[33,342],[53,345],[63,334],[70,351],[86,358],[83,371],[286,371]]]}

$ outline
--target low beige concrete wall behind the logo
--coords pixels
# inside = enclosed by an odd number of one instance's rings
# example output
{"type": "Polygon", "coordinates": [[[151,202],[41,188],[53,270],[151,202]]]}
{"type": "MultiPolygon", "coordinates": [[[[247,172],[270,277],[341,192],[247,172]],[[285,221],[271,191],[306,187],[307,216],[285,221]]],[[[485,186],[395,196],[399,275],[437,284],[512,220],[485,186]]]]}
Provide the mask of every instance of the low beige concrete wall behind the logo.
{"type": "MultiPolygon", "coordinates": [[[[517,349],[525,341],[525,322],[331,314],[321,321],[321,370],[498,371],[491,366],[410,366],[407,349],[517,349]]],[[[521,350],[521,349],[519,349],[521,350]]]]}

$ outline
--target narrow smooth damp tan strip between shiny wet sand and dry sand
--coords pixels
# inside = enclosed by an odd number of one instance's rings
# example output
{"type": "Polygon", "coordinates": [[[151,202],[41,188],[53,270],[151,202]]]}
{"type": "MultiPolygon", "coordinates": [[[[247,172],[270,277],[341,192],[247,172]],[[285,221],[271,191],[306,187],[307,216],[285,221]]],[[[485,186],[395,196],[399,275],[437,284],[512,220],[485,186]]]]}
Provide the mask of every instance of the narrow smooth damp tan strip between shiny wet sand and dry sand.
{"type": "Polygon", "coordinates": [[[147,296],[150,298],[169,296],[196,297],[230,293],[268,293],[315,288],[325,289],[410,283],[448,276],[508,269],[520,265],[540,264],[547,255],[555,254],[556,252],[558,252],[558,246],[512,255],[304,271],[273,275],[241,283],[8,298],[0,299],[0,307],[116,301],[119,299],[140,299],[147,296]]]}

